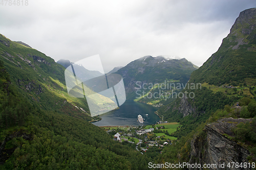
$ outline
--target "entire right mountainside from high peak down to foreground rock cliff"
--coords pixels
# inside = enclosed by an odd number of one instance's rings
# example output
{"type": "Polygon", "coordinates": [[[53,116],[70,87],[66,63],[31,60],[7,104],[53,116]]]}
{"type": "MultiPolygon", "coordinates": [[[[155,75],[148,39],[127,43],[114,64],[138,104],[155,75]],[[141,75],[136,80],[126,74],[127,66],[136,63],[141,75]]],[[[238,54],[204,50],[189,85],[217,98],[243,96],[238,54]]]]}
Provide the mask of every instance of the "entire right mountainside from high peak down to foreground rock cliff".
{"type": "Polygon", "coordinates": [[[251,169],[246,165],[256,161],[255,25],[256,8],[242,11],[218,51],[191,73],[190,86],[182,92],[193,97],[178,98],[158,110],[165,120],[182,125],[173,134],[179,141],[159,161],[251,169]],[[199,87],[191,88],[195,84],[199,87]]]}

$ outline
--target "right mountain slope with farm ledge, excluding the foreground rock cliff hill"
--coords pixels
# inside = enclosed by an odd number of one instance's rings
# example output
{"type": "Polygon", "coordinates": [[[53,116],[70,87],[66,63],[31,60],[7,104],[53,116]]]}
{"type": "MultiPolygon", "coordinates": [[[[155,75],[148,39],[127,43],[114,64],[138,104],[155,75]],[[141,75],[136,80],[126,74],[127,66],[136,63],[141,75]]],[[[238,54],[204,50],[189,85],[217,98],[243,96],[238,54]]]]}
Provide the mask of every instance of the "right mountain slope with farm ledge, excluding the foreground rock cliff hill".
{"type": "Polygon", "coordinates": [[[204,116],[205,120],[210,112],[231,105],[242,96],[255,96],[255,25],[255,8],[241,12],[219,50],[191,73],[189,83],[202,84],[199,89],[186,89],[195,97],[177,99],[159,112],[175,120],[187,115],[197,119],[204,116]]]}

